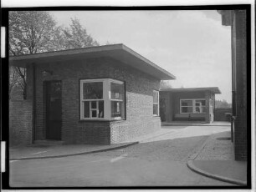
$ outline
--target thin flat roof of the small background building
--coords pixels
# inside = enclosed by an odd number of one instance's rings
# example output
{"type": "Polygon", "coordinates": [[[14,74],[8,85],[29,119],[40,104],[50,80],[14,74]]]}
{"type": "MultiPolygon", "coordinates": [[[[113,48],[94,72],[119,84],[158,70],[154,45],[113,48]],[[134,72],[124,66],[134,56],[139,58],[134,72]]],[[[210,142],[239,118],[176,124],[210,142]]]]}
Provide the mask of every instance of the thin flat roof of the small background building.
{"type": "Polygon", "coordinates": [[[199,91],[211,91],[215,94],[220,94],[221,91],[218,87],[209,87],[209,88],[161,88],[160,91],[163,92],[199,92],[199,91]]]}

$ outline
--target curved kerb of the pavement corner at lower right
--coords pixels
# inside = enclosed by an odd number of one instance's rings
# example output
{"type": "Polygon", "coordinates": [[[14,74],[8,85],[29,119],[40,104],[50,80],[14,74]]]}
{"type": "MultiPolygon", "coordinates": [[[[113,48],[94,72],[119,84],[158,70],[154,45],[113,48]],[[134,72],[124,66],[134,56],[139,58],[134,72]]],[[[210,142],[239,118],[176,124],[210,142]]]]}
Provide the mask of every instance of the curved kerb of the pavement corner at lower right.
{"type": "Polygon", "coordinates": [[[221,176],[221,175],[218,175],[218,174],[209,174],[208,172],[206,172],[206,171],[204,171],[202,169],[197,168],[193,164],[192,160],[188,160],[187,161],[187,167],[189,169],[192,169],[192,171],[195,171],[197,174],[202,174],[202,175],[207,176],[207,177],[212,178],[212,179],[218,179],[218,180],[221,180],[221,181],[224,181],[224,182],[228,182],[228,183],[231,183],[231,184],[238,184],[238,185],[243,185],[243,186],[247,185],[246,182],[238,180],[238,179],[230,179],[228,177],[224,177],[224,176],[221,176]]]}

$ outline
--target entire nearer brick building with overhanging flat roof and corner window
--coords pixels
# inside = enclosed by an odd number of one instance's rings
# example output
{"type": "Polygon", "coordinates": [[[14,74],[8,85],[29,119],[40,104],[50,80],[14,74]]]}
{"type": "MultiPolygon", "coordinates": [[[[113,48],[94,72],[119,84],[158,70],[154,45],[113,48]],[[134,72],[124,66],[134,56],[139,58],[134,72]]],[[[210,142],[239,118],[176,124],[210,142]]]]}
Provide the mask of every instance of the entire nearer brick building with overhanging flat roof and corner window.
{"type": "Polygon", "coordinates": [[[175,78],[123,44],[18,56],[10,63],[28,71],[33,141],[64,144],[116,144],[160,129],[160,81],[175,78]]]}

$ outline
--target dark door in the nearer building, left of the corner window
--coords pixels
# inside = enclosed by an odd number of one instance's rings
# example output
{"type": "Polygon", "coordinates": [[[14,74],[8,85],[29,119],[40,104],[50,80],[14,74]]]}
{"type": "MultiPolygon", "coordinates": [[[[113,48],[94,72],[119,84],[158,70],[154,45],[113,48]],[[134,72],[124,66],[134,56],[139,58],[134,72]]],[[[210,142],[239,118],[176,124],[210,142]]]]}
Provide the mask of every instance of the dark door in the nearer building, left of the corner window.
{"type": "Polygon", "coordinates": [[[61,139],[61,81],[45,82],[46,139],[61,139]]]}

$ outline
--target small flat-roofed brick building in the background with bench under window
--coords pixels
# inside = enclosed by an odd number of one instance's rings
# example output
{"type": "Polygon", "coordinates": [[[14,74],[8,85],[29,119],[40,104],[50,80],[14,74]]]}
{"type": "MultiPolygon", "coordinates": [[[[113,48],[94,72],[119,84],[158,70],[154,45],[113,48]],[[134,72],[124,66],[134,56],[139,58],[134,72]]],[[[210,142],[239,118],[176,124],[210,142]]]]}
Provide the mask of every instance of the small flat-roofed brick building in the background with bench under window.
{"type": "Polygon", "coordinates": [[[202,121],[214,119],[218,88],[166,88],[160,92],[161,121],[202,121]]]}

